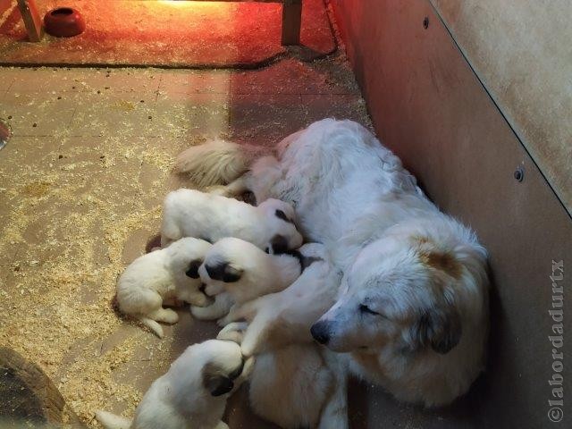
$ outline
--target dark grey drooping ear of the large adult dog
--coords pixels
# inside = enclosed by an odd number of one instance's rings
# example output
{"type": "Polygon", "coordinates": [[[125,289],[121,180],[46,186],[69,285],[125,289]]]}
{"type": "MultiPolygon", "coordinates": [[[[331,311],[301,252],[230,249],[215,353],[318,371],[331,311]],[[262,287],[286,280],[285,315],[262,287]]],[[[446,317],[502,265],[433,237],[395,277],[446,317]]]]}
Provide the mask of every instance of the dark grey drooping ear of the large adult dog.
{"type": "Polygon", "coordinates": [[[460,317],[452,306],[445,311],[438,308],[425,311],[410,329],[409,345],[412,350],[431,347],[442,355],[458,344],[462,333],[460,317]]]}

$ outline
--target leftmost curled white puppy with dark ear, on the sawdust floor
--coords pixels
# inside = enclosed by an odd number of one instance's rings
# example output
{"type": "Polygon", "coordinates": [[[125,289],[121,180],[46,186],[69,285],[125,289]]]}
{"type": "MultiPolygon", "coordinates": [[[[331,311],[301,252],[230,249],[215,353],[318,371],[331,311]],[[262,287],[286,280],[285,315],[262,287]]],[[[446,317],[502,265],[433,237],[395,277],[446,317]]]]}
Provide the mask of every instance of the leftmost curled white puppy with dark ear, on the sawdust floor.
{"type": "Polygon", "coordinates": [[[174,324],[179,315],[164,308],[164,301],[177,299],[195,306],[206,306],[212,299],[200,290],[198,267],[211,244],[185,238],[169,247],[135,259],[117,281],[117,304],[122,313],[131,315],[163,338],[156,321],[174,324]]]}

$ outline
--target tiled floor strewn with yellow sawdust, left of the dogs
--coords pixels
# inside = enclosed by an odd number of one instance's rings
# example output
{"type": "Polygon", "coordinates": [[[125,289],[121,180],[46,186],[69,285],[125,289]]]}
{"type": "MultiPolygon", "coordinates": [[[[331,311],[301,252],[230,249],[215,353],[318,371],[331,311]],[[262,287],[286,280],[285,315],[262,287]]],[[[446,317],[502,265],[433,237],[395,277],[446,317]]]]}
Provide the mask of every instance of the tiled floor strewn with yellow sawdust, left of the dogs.
{"type": "MultiPolygon", "coordinates": [[[[324,117],[368,123],[341,58],[257,71],[0,68],[0,343],[46,371],[88,425],[130,415],[214,324],[160,341],[113,308],[115,279],[158,230],[173,157],[211,137],[273,145],[324,117]]],[[[231,400],[232,428],[270,427],[231,400]]],[[[363,411],[355,419],[365,421],[363,411]],[[362,414],[360,414],[362,413],[362,414]]]]}

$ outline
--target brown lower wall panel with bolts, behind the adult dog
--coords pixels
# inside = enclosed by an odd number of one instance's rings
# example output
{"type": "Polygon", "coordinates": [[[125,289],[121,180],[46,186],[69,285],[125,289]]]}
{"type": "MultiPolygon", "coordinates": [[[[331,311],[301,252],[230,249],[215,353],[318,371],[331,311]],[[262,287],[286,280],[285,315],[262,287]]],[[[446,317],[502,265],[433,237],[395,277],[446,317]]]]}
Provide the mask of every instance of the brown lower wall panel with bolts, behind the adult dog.
{"type": "MultiPolygon", "coordinates": [[[[429,1],[332,5],[379,137],[444,211],[473,226],[490,251],[493,281],[484,377],[466,398],[442,410],[407,408],[380,393],[366,407],[379,422],[372,427],[558,427],[548,416],[554,400],[548,381],[553,365],[572,365],[572,341],[557,349],[563,358],[552,356],[549,310],[559,293],[550,275],[552,261],[563,260],[559,285],[569,289],[572,221],[566,209],[429,1]],[[523,181],[513,176],[518,167],[523,181]]],[[[508,43],[509,34],[499,44],[508,43]]],[[[492,69],[507,72],[509,64],[492,69]]],[[[521,111],[514,109],[516,117],[521,111]]],[[[565,303],[564,313],[569,311],[565,303]]],[[[564,320],[566,338],[572,318],[564,320]]],[[[564,378],[564,391],[572,391],[572,375],[564,378]]],[[[559,427],[572,427],[571,402],[564,403],[559,427]]]]}

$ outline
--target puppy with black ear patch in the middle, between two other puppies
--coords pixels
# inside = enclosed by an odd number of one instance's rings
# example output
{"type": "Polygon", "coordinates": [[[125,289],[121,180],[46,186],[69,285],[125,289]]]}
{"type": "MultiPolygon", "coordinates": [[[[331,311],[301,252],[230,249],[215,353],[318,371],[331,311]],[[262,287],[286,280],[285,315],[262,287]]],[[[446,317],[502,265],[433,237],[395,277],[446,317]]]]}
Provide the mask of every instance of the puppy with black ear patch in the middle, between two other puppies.
{"type": "Polygon", "coordinates": [[[198,275],[206,295],[226,292],[234,301],[229,315],[219,321],[225,325],[235,320],[234,313],[244,303],[295,282],[304,269],[301,260],[290,254],[270,255],[248,241],[227,237],[208,250],[198,275]]]}

